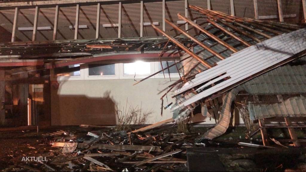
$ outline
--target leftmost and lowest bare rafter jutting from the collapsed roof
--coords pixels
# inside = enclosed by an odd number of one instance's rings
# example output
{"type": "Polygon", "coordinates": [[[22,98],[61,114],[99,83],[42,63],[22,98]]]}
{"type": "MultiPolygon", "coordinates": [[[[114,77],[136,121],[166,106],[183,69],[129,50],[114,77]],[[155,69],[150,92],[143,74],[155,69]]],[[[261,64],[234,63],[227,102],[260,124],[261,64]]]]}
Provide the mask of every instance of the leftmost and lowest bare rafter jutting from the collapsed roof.
{"type": "Polygon", "coordinates": [[[198,56],[197,54],[195,54],[194,52],[190,51],[187,47],[185,47],[182,43],[178,42],[176,39],[174,39],[172,36],[168,35],[166,32],[160,30],[159,28],[157,28],[154,24],[151,24],[151,26],[157,30],[158,32],[162,33],[164,36],[166,36],[167,38],[170,39],[170,41],[172,41],[173,43],[175,43],[178,47],[180,47],[182,50],[184,50],[187,54],[191,55],[193,58],[195,58],[196,60],[198,60],[199,62],[201,62],[204,66],[206,66],[207,68],[211,68],[211,66],[209,64],[207,64],[200,56],[198,56]]]}

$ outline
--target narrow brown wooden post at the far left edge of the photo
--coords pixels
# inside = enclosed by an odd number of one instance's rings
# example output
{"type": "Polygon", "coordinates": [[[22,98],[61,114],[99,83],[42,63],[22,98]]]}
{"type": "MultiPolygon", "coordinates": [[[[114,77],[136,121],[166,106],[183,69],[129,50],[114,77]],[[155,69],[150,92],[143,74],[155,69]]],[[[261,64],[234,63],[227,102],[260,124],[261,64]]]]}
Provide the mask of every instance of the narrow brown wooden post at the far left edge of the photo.
{"type": "Polygon", "coordinates": [[[0,124],[5,125],[5,75],[0,69],[0,124]]]}

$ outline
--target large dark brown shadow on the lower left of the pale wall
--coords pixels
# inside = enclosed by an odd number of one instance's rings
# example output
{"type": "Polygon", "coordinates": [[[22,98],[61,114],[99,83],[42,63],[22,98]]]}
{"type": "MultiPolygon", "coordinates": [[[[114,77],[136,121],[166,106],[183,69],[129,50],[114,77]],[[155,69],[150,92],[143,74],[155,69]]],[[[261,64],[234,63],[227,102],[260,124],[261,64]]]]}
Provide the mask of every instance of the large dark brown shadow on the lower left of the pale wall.
{"type": "Polygon", "coordinates": [[[106,92],[102,98],[85,95],[56,96],[51,110],[52,125],[115,125],[115,102],[106,92]]]}

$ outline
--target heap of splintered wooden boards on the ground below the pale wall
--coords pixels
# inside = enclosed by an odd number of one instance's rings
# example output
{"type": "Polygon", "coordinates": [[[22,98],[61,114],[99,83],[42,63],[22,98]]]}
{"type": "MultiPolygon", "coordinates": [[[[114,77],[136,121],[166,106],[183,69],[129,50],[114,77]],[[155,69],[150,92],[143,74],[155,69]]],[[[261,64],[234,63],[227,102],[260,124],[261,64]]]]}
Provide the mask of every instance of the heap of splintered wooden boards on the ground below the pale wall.
{"type": "Polygon", "coordinates": [[[52,146],[62,151],[48,161],[49,167],[45,168],[51,171],[187,170],[186,148],[197,146],[192,144],[196,134],[175,134],[165,128],[145,133],[115,129],[62,131],[49,137],[52,146]]]}

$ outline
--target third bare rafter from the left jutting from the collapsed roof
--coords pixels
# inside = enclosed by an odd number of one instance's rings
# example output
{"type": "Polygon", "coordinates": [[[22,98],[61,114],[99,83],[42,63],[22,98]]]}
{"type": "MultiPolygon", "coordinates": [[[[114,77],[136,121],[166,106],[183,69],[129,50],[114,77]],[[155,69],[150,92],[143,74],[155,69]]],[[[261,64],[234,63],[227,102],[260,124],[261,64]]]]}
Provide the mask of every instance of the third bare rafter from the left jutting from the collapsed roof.
{"type": "Polygon", "coordinates": [[[211,37],[212,39],[214,39],[215,41],[217,41],[218,43],[220,43],[221,45],[223,45],[224,47],[230,49],[231,51],[233,51],[234,53],[237,52],[238,50],[232,46],[230,46],[228,43],[224,42],[223,40],[221,40],[220,38],[218,38],[217,36],[215,36],[214,34],[212,34],[211,32],[208,32],[206,29],[202,28],[201,26],[199,26],[198,24],[196,24],[195,22],[189,20],[186,17],[183,17],[180,13],[177,14],[178,18],[188,22],[189,24],[191,24],[192,26],[194,26],[195,28],[199,29],[201,32],[205,33],[207,36],[211,37]]]}

